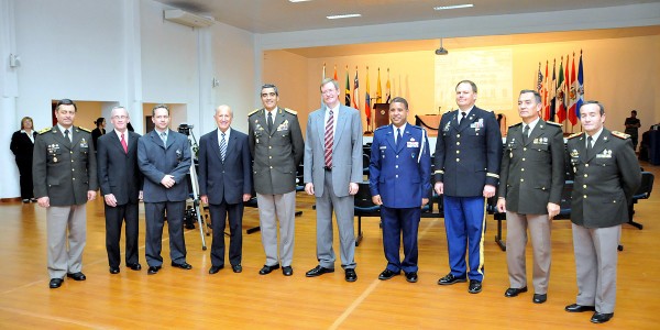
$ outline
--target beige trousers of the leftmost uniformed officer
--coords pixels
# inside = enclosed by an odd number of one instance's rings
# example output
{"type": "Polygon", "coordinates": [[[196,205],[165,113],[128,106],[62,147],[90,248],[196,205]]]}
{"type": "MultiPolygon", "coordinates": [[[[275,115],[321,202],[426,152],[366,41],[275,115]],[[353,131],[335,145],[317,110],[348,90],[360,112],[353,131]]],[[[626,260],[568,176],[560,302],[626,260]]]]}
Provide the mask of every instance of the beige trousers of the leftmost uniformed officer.
{"type": "Polygon", "coordinates": [[[51,278],[81,272],[82,249],[87,242],[86,205],[46,208],[46,230],[51,278]]]}

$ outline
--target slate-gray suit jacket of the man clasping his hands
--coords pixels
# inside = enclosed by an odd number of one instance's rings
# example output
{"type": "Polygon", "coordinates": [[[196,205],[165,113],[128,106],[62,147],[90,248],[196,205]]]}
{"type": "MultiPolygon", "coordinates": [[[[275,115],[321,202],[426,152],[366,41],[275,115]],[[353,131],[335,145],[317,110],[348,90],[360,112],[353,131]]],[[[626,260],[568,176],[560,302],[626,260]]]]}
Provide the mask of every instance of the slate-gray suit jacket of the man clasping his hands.
{"type": "Polygon", "coordinates": [[[190,144],[182,133],[168,130],[167,147],[156,130],[138,140],[138,164],[144,174],[142,198],[145,202],[184,201],[188,198],[187,175],[190,170],[190,144]],[[174,176],[176,184],[165,188],[161,180],[174,176]]]}

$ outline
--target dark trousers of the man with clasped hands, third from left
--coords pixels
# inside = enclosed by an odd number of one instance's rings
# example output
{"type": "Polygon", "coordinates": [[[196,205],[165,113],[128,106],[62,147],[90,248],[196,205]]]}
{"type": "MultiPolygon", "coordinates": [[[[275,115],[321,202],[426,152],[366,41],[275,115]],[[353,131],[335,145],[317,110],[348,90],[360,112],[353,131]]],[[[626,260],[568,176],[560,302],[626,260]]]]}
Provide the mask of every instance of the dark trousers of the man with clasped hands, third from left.
{"type": "Polygon", "coordinates": [[[186,201],[145,202],[146,218],[145,256],[151,266],[162,266],[163,227],[167,211],[167,232],[169,234],[169,258],[182,264],[186,262],[186,241],[184,239],[184,211],[186,201]]]}

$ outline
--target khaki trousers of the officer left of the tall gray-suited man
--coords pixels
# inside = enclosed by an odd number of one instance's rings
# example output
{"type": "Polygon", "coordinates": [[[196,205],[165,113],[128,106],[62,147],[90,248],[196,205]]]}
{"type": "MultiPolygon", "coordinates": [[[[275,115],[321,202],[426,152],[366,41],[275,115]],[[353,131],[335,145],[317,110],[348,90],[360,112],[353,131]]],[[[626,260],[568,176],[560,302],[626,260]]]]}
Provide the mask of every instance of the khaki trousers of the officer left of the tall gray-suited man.
{"type": "Polygon", "coordinates": [[[258,226],[267,266],[278,264],[290,266],[294,261],[294,238],[296,232],[296,190],[277,194],[256,194],[258,226]],[[275,217],[277,216],[277,218],[275,217]],[[279,258],[277,258],[277,220],[279,220],[279,258]]]}

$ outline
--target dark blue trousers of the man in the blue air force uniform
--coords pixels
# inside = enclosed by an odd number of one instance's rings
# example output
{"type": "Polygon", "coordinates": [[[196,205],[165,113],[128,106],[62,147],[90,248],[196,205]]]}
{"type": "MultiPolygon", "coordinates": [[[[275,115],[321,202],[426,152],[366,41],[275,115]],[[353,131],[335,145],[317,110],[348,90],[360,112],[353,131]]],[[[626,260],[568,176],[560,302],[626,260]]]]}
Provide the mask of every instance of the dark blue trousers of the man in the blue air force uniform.
{"type": "Polygon", "coordinates": [[[383,221],[383,249],[387,260],[387,270],[398,273],[417,272],[418,250],[417,232],[419,229],[420,208],[388,208],[381,206],[383,221]],[[404,261],[399,251],[404,241],[404,261]]]}

